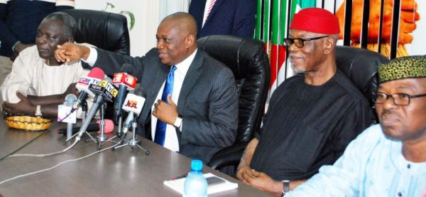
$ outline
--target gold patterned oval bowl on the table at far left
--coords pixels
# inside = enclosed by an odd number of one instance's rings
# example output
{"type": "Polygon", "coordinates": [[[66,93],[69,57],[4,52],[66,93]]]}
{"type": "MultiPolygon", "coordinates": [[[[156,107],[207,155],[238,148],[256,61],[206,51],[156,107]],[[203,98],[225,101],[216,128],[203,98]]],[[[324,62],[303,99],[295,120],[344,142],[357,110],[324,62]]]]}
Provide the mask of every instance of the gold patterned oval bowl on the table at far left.
{"type": "Polygon", "coordinates": [[[52,124],[51,119],[30,116],[10,116],[4,120],[7,126],[15,129],[23,129],[28,131],[45,130],[52,124]]]}

